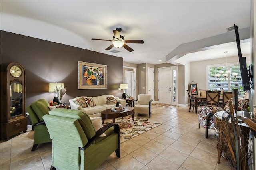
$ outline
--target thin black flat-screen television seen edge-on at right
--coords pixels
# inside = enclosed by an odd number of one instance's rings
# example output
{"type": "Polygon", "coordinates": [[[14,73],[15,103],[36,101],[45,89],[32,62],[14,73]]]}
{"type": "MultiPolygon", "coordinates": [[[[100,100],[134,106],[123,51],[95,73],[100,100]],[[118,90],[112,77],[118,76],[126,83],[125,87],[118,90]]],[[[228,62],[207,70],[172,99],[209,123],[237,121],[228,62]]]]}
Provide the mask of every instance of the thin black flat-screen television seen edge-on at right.
{"type": "Polygon", "coordinates": [[[235,34],[236,34],[236,45],[238,50],[240,72],[242,77],[242,86],[243,86],[243,90],[246,91],[246,90],[250,90],[250,77],[246,67],[246,57],[242,57],[240,39],[238,34],[238,26],[234,24],[234,28],[235,28],[235,34]]]}

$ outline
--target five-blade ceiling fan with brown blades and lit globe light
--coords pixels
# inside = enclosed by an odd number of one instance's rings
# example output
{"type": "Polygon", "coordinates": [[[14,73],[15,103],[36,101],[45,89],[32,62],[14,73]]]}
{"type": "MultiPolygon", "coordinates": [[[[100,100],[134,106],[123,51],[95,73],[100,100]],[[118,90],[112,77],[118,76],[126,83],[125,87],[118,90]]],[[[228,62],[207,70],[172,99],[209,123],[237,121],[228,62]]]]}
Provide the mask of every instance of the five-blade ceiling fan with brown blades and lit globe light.
{"type": "Polygon", "coordinates": [[[125,43],[144,43],[143,40],[124,40],[124,36],[120,35],[120,32],[122,31],[122,28],[116,28],[116,30],[113,30],[114,36],[113,40],[104,40],[104,39],[96,39],[92,38],[92,40],[103,40],[103,41],[110,41],[112,44],[106,48],[106,50],[110,50],[113,47],[121,48],[124,47],[129,52],[132,52],[133,49],[126,45],[125,43]]]}

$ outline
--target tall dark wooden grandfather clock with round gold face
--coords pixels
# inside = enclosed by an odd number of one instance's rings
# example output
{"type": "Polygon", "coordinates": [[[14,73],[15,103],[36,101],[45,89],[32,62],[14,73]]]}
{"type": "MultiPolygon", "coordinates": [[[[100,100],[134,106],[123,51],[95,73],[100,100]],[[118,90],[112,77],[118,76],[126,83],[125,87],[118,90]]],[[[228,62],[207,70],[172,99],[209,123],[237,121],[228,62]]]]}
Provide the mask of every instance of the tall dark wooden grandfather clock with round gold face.
{"type": "Polygon", "coordinates": [[[27,132],[25,69],[19,63],[1,64],[1,138],[27,132]]]}

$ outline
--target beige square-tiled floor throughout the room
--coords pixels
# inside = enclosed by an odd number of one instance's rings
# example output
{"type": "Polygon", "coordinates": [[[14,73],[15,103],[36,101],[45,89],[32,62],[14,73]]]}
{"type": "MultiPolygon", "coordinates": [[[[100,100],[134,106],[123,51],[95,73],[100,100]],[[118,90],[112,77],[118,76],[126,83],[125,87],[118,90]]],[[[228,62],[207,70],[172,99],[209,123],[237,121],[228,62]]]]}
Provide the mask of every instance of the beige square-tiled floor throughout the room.
{"type": "MultiPolygon", "coordinates": [[[[148,115],[138,115],[148,117],[148,115]]],[[[152,106],[151,118],[162,125],[121,144],[121,158],[115,153],[99,170],[227,170],[227,161],[217,163],[216,137],[198,128],[197,115],[188,107],[168,109],[152,106]]],[[[51,143],[39,144],[31,152],[34,131],[0,143],[1,170],[49,170],[51,143]]]]}

